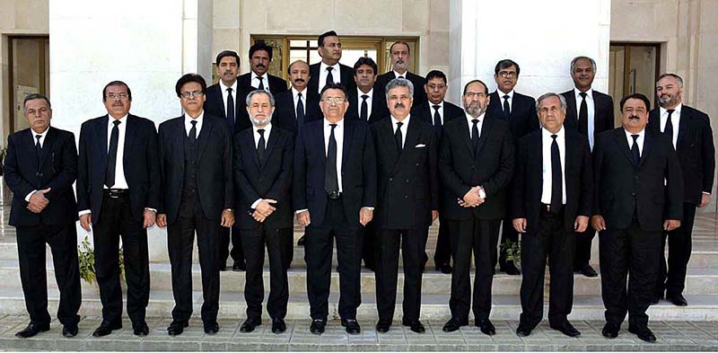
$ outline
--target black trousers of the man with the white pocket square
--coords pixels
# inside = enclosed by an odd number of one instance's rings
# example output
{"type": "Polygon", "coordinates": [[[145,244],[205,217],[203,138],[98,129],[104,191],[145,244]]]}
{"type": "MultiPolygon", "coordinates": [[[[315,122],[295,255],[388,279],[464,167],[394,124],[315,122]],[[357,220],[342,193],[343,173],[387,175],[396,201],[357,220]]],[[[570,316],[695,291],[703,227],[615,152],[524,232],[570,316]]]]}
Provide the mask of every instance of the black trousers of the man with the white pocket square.
{"type": "Polygon", "coordinates": [[[415,322],[421,313],[421,278],[425,266],[425,237],[420,229],[381,229],[377,232],[376,306],[380,320],[391,321],[397,304],[398,249],[404,260],[404,321],[415,322]]]}

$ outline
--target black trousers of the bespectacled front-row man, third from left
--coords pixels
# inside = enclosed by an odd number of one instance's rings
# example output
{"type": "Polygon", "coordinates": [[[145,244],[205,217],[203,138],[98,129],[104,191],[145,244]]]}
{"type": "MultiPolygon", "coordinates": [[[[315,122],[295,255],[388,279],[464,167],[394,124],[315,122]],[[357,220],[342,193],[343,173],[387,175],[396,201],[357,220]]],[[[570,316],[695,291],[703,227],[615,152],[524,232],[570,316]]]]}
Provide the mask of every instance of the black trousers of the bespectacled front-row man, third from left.
{"type": "Polygon", "coordinates": [[[202,321],[213,323],[219,311],[219,219],[209,219],[202,212],[194,192],[182,191],[180,214],[167,227],[167,247],[172,267],[172,309],[174,321],[186,322],[192,316],[192,246],[197,231],[199,267],[202,270],[202,321]]]}

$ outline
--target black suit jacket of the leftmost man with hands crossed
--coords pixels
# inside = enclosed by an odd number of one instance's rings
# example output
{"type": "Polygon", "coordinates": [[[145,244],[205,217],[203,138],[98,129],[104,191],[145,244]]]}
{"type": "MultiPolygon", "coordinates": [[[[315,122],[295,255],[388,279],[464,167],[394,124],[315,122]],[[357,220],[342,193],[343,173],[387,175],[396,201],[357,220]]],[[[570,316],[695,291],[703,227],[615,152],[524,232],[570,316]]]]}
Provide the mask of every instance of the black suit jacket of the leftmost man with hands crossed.
{"type": "Polygon", "coordinates": [[[73,182],[77,174],[77,149],[72,132],[50,127],[39,159],[30,128],[7,137],[4,179],[13,191],[10,225],[67,225],[77,220],[73,182]],[[39,164],[39,166],[38,166],[39,164]],[[32,213],[25,197],[33,190],[50,189],[48,206],[32,213]]]}

